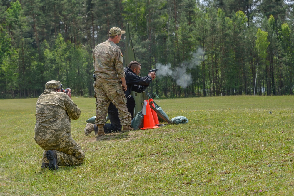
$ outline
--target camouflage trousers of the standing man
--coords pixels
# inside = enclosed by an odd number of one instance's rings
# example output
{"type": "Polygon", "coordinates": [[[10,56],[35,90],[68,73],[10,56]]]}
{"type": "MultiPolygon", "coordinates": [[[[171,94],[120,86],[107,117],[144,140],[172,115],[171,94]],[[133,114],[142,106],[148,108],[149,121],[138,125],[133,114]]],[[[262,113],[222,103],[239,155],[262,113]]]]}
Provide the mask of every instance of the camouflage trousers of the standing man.
{"type": "Polygon", "coordinates": [[[131,114],[126,106],[127,100],[121,83],[106,84],[96,80],[94,82],[96,98],[96,125],[105,125],[106,115],[110,102],[118,109],[118,118],[121,125],[131,126],[131,114]]]}

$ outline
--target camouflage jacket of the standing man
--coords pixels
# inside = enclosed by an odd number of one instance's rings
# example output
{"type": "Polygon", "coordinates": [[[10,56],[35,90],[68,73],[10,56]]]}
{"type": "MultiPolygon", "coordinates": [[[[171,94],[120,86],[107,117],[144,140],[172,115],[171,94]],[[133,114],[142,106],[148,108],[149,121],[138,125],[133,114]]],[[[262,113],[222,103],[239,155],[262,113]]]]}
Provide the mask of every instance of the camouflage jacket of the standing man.
{"type": "Polygon", "coordinates": [[[106,83],[117,83],[125,77],[123,54],[113,41],[105,41],[93,50],[94,74],[96,79],[106,83]]]}

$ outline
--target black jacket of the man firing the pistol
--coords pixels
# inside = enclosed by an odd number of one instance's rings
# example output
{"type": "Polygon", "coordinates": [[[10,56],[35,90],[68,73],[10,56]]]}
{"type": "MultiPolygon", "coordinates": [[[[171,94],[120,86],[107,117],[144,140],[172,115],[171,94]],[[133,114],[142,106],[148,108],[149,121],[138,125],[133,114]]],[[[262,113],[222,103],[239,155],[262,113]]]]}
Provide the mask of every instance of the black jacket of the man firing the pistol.
{"type": "Polygon", "coordinates": [[[140,77],[137,76],[130,68],[124,68],[126,74],[126,84],[128,86],[127,90],[125,91],[126,97],[131,94],[131,91],[135,91],[137,93],[142,93],[147,86],[152,82],[151,76],[140,77]]]}

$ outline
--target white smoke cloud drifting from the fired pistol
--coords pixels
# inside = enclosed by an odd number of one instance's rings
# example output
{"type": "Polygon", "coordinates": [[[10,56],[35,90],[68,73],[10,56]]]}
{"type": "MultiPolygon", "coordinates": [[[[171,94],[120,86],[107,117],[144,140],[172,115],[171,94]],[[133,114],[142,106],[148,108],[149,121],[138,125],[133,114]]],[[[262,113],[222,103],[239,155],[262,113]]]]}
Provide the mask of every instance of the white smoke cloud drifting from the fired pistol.
{"type": "Polygon", "coordinates": [[[182,88],[187,88],[188,85],[192,84],[191,73],[187,73],[187,69],[193,69],[198,66],[203,60],[204,51],[202,48],[198,48],[195,53],[192,53],[192,58],[190,61],[184,61],[180,66],[172,69],[171,63],[163,65],[161,63],[156,63],[156,68],[159,70],[156,72],[157,77],[172,76],[176,83],[182,88]]]}

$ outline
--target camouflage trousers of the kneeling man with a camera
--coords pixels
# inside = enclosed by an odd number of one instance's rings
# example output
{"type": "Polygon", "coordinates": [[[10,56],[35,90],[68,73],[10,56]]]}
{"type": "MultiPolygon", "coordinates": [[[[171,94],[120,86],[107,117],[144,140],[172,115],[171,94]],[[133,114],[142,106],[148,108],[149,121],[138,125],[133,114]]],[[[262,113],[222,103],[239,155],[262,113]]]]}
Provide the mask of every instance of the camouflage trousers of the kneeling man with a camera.
{"type": "MultiPolygon", "coordinates": [[[[44,143],[43,143],[44,144],[44,143]]],[[[71,166],[71,165],[80,165],[83,163],[85,158],[85,153],[81,149],[81,146],[74,141],[73,138],[69,138],[65,140],[62,144],[62,148],[48,148],[48,145],[41,146],[41,148],[45,149],[43,152],[42,163],[49,163],[46,157],[47,150],[56,150],[57,154],[57,165],[58,166],[71,166]]]]}

